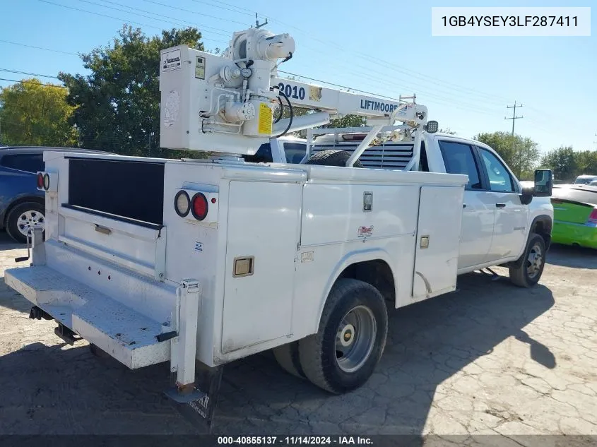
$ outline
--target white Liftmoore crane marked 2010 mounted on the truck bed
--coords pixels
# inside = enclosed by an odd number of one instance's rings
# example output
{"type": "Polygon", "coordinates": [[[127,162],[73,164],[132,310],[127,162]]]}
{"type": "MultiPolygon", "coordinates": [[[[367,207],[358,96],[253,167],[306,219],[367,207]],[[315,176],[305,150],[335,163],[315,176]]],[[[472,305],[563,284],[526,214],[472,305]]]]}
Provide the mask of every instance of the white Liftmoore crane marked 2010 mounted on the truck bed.
{"type": "Polygon", "coordinates": [[[290,35],[274,35],[263,28],[235,32],[221,55],[187,45],[162,50],[160,145],[253,155],[272,137],[355,114],[371,126],[353,154],[356,160],[382,129],[396,121],[402,124],[393,129],[415,133],[425,129],[427,107],[416,104],[415,97],[401,102],[278,78],[278,66],[294,52],[290,35]],[[288,107],[290,117],[274,120],[276,105],[288,107]],[[295,107],[314,112],[294,116],[295,107]]]}

